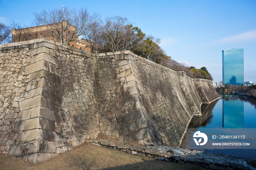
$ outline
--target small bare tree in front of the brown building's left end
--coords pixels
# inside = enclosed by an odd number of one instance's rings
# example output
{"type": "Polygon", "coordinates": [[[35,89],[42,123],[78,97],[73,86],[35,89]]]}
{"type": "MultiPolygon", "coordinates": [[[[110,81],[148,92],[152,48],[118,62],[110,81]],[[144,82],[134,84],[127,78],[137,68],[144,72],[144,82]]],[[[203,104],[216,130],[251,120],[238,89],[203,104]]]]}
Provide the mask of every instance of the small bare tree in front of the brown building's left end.
{"type": "Polygon", "coordinates": [[[12,42],[26,41],[30,39],[30,33],[32,29],[26,25],[21,26],[20,23],[16,23],[12,20],[12,42]]]}

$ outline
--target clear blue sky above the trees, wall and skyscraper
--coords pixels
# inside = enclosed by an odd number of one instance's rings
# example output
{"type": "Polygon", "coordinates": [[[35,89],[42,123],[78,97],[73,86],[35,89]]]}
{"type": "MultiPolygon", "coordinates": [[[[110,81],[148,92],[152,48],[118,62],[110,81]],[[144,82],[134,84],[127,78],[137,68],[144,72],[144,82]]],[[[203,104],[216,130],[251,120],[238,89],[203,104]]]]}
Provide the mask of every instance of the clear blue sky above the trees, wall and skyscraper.
{"type": "Polygon", "coordinates": [[[0,23],[10,25],[13,19],[31,26],[33,12],[62,5],[86,7],[102,18],[126,17],[147,35],[160,38],[172,59],[207,67],[215,82],[222,80],[222,50],[244,48],[244,81],[256,82],[255,0],[0,0],[0,23]]]}

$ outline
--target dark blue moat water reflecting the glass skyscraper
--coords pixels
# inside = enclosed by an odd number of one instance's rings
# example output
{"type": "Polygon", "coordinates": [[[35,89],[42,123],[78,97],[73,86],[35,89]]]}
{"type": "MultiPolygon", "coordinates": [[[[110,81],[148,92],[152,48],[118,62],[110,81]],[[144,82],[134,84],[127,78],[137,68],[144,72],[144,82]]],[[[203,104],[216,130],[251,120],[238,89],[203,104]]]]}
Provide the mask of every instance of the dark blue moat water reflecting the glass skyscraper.
{"type": "MultiPolygon", "coordinates": [[[[256,100],[246,96],[221,95],[201,106],[202,117],[193,118],[188,128],[256,128],[256,100]]],[[[256,148],[256,147],[255,147],[256,148]]],[[[256,149],[212,149],[208,152],[256,159],[256,149]]]]}

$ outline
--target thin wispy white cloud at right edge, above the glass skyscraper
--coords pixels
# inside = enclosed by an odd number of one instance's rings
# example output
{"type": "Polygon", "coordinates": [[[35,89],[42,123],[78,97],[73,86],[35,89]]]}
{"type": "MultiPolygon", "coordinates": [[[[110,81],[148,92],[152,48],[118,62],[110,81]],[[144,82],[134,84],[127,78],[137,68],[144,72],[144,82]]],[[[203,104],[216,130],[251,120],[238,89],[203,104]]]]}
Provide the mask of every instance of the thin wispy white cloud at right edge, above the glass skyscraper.
{"type": "Polygon", "coordinates": [[[256,30],[247,31],[235,36],[227,36],[217,43],[233,43],[233,42],[245,42],[250,40],[256,40],[256,30]]]}

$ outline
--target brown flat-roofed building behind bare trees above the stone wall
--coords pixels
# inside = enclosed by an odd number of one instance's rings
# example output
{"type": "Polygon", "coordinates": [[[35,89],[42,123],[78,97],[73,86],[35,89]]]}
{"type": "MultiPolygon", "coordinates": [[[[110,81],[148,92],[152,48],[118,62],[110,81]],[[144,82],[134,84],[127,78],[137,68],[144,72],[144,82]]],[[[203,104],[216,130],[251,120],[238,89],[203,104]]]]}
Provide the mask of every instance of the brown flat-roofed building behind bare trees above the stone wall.
{"type": "MultiPolygon", "coordinates": [[[[64,36],[66,38],[76,36],[77,27],[68,24],[66,21],[63,22],[65,22],[65,24],[68,25],[68,29],[65,31],[64,36]]],[[[18,30],[12,28],[12,42],[20,42],[37,38],[47,38],[60,42],[60,39],[56,38],[54,34],[56,35],[57,32],[61,30],[58,29],[58,24],[62,23],[22,28],[18,30]]],[[[86,39],[83,38],[77,37],[74,41],[69,42],[68,45],[84,51],[91,52],[90,44],[86,39]]]]}

